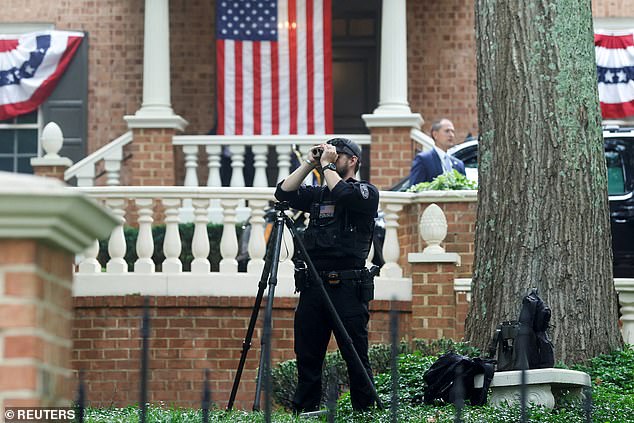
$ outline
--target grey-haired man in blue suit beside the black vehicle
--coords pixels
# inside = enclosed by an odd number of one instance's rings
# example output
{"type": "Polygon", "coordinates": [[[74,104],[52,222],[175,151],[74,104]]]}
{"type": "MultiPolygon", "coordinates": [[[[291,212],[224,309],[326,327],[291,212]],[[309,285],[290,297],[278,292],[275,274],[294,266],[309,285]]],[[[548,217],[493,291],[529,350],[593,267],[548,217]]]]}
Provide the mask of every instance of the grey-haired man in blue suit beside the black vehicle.
{"type": "Polygon", "coordinates": [[[431,137],[434,148],[418,153],[414,157],[409,174],[411,185],[420,182],[431,182],[436,176],[456,169],[465,175],[464,163],[460,159],[449,156],[447,150],[456,145],[456,132],[449,119],[440,119],[431,125],[431,137]]]}

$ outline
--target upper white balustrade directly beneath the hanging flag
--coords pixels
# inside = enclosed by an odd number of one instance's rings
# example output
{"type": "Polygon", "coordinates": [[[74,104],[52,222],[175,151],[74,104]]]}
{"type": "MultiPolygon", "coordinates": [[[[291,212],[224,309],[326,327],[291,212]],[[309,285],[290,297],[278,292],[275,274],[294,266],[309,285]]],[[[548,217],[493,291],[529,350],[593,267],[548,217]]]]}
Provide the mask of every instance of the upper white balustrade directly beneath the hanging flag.
{"type": "Polygon", "coordinates": [[[267,167],[278,169],[276,181],[286,178],[291,171],[292,150],[295,147],[300,153],[305,153],[313,145],[324,142],[329,138],[345,137],[352,139],[361,148],[370,145],[370,135],[178,135],[174,136],[174,145],[183,148],[185,158],[185,181],[187,187],[196,187],[198,181],[198,153],[204,147],[207,155],[209,173],[206,185],[220,187],[220,167],[223,146],[231,156],[231,187],[244,187],[244,157],[247,147],[253,152],[254,187],[268,187],[266,175],[267,167]],[[274,163],[269,163],[269,147],[274,147],[274,163]],[[271,165],[271,166],[269,166],[271,165]]]}

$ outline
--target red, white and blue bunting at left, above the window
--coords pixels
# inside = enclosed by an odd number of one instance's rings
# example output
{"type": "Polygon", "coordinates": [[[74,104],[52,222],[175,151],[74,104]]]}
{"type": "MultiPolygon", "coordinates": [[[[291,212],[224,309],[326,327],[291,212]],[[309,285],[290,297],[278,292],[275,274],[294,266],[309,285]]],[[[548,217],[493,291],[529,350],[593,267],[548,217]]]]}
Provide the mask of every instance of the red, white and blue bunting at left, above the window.
{"type": "Polygon", "coordinates": [[[0,120],[36,110],[53,92],[84,34],[0,35],[0,120]]]}

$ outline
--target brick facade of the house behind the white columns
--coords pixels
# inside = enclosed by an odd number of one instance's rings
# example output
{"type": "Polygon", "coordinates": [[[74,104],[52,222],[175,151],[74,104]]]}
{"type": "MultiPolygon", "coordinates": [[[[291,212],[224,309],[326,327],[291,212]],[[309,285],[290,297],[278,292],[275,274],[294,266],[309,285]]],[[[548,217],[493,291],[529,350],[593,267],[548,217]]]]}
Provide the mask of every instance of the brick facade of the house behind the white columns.
{"type": "MultiPolygon", "coordinates": [[[[408,101],[426,120],[427,132],[442,116],[454,121],[459,139],[478,132],[473,7],[473,0],[407,2],[408,101]]],[[[89,153],[127,131],[123,116],[141,106],[143,11],[142,0],[3,2],[0,23],[53,23],[57,29],[88,33],[89,153]]],[[[597,0],[593,12],[631,16],[631,1],[597,0]]],[[[188,134],[206,134],[215,123],[214,19],[213,0],[170,1],[172,107],[189,122],[188,134]]],[[[398,167],[398,176],[405,176],[409,166],[398,167]]],[[[182,166],[176,171],[180,183],[182,166]]]]}

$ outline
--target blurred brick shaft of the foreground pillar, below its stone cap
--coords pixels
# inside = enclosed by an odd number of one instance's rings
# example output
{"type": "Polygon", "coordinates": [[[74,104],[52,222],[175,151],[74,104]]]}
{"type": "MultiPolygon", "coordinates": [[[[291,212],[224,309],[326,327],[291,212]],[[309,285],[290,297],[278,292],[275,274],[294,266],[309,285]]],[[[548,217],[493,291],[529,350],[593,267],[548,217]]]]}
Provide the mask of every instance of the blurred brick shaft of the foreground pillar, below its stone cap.
{"type": "Polygon", "coordinates": [[[70,404],[72,261],[37,241],[0,240],[0,408],[70,404]]]}

